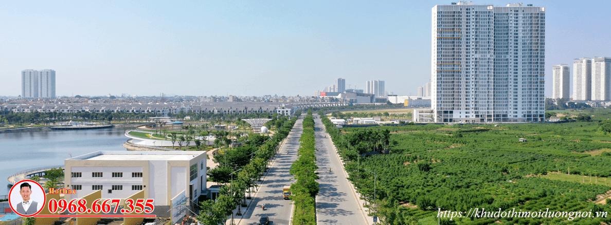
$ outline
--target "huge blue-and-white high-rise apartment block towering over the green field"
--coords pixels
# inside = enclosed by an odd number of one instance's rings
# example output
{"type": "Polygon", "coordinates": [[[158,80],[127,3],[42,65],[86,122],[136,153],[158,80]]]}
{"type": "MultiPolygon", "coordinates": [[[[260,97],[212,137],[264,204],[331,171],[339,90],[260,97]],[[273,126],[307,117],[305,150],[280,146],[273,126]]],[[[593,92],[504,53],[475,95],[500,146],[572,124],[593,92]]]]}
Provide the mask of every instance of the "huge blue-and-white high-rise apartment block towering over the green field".
{"type": "Polygon", "coordinates": [[[545,8],[433,7],[434,120],[544,121],[545,8]]]}

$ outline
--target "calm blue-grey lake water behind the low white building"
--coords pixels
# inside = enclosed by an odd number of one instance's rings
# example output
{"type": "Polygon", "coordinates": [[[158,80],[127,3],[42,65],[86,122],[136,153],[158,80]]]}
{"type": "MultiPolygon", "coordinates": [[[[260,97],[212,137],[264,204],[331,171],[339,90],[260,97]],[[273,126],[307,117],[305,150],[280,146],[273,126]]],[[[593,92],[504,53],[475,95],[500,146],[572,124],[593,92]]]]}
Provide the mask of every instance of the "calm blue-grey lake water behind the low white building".
{"type": "Polygon", "coordinates": [[[0,195],[8,195],[6,179],[19,171],[64,165],[64,160],[95,151],[126,151],[127,127],[95,130],[33,129],[0,132],[0,195]]]}

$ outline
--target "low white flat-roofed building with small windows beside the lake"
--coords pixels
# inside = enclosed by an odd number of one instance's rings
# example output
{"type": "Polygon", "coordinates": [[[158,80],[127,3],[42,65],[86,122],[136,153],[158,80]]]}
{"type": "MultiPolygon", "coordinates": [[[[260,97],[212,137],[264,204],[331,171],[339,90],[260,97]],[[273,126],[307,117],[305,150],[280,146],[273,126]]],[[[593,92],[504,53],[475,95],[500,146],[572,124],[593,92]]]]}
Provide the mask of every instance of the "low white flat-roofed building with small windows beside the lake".
{"type": "Polygon", "coordinates": [[[66,188],[82,198],[101,190],[103,199],[127,198],[144,190],[154,205],[172,199],[197,202],[206,188],[205,151],[97,151],[65,160],[66,188]]]}

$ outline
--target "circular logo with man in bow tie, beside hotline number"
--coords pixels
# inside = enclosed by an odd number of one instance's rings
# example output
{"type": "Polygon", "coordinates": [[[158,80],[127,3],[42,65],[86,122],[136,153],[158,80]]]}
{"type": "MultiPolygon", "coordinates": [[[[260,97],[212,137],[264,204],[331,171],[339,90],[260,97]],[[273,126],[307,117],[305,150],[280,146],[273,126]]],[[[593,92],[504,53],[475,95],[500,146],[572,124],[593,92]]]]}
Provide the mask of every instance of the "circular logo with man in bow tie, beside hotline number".
{"type": "Polygon", "coordinates": [[[21,180],[10,188],[9,203],[10,209],[17,215],[24,217],[37,215],[45,208],[45,189],[34,180],[21,180]]]}

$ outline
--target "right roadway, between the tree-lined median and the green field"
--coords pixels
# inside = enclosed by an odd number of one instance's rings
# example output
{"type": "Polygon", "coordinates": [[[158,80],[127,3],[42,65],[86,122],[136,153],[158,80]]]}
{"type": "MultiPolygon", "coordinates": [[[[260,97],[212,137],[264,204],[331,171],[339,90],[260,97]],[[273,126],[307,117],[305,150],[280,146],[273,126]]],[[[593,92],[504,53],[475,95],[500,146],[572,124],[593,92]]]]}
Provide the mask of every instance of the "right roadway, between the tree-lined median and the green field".
{"type": "Polygon", "coordinates": [[[314,119],[316,165],[320,173],[320,191],[316,196],[316,224],[367,225],[360,202],[348,184],[342,162],[333,149],[329,134],[320,118],[314,119]],[[329,172],[331,168],[331,172],[329,172]]]}

